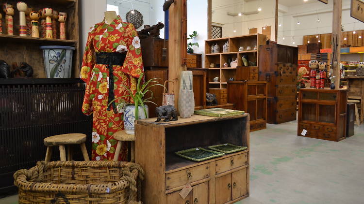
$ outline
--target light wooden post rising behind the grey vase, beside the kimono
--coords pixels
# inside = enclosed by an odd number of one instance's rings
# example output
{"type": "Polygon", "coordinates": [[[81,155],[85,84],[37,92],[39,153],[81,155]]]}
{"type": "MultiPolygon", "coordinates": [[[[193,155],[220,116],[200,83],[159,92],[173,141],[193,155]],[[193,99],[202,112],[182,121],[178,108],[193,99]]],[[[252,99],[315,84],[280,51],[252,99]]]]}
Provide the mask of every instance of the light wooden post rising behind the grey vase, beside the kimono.
{"type": "Polygon", "coordinates": [[[183,1],[176,0],[169,8],[169,39],[168,39],[168,80],[173,81],[175,86],[169,86],[169,93],[175,94],[175,108],[178,110],[178,94],[180,90],[181,72],[186,71],[185,65],[182,66],[181,49],[187,46],[187,42],[182,42],[182,11],[183,1]]]}

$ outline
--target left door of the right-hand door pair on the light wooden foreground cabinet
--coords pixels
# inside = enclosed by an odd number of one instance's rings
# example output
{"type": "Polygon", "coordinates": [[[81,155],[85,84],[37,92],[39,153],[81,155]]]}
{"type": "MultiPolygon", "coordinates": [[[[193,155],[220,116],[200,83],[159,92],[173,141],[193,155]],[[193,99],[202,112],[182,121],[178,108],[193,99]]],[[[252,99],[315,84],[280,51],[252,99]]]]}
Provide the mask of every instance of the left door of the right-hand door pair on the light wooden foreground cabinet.
{"type": "Polygon", "coordinates": [[[232,175],[224,175],[216,178],[215,203],[224,204],[232,198],[232,175]]]}

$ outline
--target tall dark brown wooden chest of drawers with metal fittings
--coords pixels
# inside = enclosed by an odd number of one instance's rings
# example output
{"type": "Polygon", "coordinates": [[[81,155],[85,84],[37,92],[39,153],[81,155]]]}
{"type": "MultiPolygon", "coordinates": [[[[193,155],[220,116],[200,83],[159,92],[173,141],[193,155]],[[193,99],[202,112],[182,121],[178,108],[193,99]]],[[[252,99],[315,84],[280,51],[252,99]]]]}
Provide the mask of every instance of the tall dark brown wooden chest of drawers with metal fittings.
{"type": "Polygon", "coordinates": [[[296,120],[298,48],[262,45],[259,62],[259,80],[268,82],[267,123],[296,120]]]}

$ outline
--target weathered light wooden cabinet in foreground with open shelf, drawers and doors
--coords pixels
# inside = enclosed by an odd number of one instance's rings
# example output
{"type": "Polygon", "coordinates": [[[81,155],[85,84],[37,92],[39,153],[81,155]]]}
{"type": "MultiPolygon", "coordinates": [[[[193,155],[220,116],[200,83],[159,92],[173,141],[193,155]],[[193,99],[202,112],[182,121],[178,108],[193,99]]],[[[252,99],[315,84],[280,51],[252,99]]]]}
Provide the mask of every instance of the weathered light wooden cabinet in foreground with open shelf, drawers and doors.
{"type": "Polygon", "coordinates": [[[249,196],[249,115],[194,115],[172,122],[135,124],[135,162],[145,171],[145,204],[232,204],[249,196]],[[186,160],[176,151],[231,143],[248,149],[201,162],[186,160]],[[150,148],[152,147],[152,148],[150,148]],[[189,183],[185,199],[181,189],[189,183]]]}

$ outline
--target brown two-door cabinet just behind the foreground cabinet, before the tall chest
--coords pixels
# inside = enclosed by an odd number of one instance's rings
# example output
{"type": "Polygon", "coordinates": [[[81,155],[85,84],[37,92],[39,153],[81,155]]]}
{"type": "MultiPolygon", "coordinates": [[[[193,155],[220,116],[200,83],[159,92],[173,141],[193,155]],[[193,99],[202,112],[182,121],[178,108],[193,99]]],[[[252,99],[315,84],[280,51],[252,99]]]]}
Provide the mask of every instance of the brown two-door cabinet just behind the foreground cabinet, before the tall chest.
{"type": "Polygon", "coordinates": [[[266,128],[267,88],[266,81],[228,82],[228,101],[250,115],[250,131],[266,128]]]}

